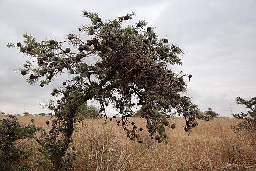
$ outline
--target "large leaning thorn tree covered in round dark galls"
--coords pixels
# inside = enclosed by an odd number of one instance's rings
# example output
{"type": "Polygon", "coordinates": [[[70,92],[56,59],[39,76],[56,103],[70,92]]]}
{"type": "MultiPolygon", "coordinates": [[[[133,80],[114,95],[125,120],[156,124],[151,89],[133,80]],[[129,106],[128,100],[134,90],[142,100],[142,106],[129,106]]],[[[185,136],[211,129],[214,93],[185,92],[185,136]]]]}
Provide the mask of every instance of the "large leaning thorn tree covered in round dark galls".
{"type": "Polygon", "coordinates": [[[84,11],[83,14],[91,24],[81,26],[77,34],[70,33],[67,40],[38,42],[24,34],[24,43],[7,45],[20,48],[24,55],[31,57],[23,68],[16,70],[30,84],[40,80],[40,86],[44,87],[58,74],[70,75],[69,80],[51,93],[58,100],[45,104],[54,111],[51,121],[46,121],[52,127],[37,141],[54,170],[62,167],[64,154],[73,142],[75,123],[80,121],[79,107],[88,100],[99,101],[99,114],[105,121],[108,117],[105,107],[113,105],[116,113],[110,120],[120,125],[130,140],[139,143],[143,143],[140,137],[143,128],[129,120],[136,106],[143,111],[141,117],[147,122],[151,139],[159,143],[168,138],[167,127],[175,128],[169,123],[175,114],[186,120],[185,131],[198,124],[195,119],[201,119],[202,113],[183,93],[186,92],[184,77],[190,79],[192,75],[167,69],[167,65],[182,64],[180,47],[168,44],[167,38],[159,38],[153,27],[145,27],[145,20],[123,27],[123,23],[134,17],[133,12],[107,22],[96,13],[84,11]],[[89,58],[94,58],[96,63],[87,63],[89,58]]]}

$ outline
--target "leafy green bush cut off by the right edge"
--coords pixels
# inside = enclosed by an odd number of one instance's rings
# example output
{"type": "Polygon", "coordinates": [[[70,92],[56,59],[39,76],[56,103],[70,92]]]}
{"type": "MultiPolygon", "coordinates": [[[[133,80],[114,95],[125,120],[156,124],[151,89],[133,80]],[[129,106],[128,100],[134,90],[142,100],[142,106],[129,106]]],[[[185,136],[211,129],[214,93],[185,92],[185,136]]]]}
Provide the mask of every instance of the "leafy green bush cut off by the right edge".
{"type": "Polygon", "coordinates": [[[250,100],[244,100],[241,97],[236,97],[236,103],[238,105],[245,105],[249,111],[247,113],[241,112],[241,114],[233,114],[233,117],[241,119],[236,126],[232,126],[235,132],[244,130],[247,133],[256,132],[256,97],[250,100]]]}

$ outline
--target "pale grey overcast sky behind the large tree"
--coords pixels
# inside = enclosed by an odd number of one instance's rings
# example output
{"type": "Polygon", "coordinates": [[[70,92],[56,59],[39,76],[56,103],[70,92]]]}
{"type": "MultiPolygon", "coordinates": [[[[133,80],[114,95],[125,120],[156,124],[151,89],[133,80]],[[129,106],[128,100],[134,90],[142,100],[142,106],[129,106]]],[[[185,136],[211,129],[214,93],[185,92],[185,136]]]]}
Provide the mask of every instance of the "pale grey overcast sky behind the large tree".
{"type": "Polygon", "coordinates": [[[256,1],[255,0],[0,0],[0,111],[9,114],[39,114],[39,103],[51,98],[52,85],[28,85],[13,70],[27,59],[17,49],[6,47],[22,42],[23,33],[38,41],[64,40],[82,24],[89,24],[82,11],[97,12],[103,20],[134,11],[131,23],[147,20],[160,38],[186,52],[183,66],[175,71],[192,74],[186,80],[192,102],[204,111],[211,107],[221,116],[245,111],[235,97],[256,96],[256,1]]]}

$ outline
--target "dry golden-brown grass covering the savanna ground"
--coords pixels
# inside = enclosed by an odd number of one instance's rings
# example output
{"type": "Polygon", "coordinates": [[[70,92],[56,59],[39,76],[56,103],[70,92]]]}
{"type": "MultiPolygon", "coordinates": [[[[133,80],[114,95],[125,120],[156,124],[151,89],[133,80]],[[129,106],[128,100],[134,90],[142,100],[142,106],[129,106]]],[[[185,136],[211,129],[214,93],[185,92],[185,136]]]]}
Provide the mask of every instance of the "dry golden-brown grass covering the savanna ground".
{"type": "MultiPolygon", "coordinates": [[[[3,118],[0,117],[1,119],[3,118]]],[[[47,117],[18,117],[20,123],[29,123],[35,119],[35,125],[44,124],[47,117]]],[[[138,126],[145,128],[145,120],[132,118],[138,126]]],[[[80,152],[74,160],[76,171],[195,171],[195,170],[256,170],[256,136],[235,134],[230,128],[238,120],[215,118],[199,121],[199,126],[191,134],[183,131],[182,118],[172,120],[174,130],[167,129],[169,140],[158,144],[150,137],[143,137],[143,144],[131,142],[116,122],[104,124],[104,120],[85,119],[74,133],[73,145],[80,152]],[[251,166],[251,167],[246,167],[251,166]]],[[[48,128],[47,128],[48,129],[48,128]]],[[[143,133],[147,135],[147,130],[143,133]]],[[[41,157],[34,140],[18,142],[23,148],[29,148],[27,160],[21,159],[20,167],[29,165],[26,170],[47,170],[49,165],[38,165],[41,157]]],[[[71,148],[71,147],[70,147],[71,148]]],[[[72,151],[70,149],[70,151],[72,151]]]]}

